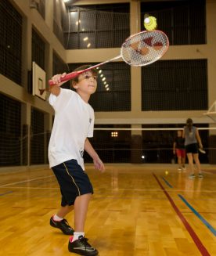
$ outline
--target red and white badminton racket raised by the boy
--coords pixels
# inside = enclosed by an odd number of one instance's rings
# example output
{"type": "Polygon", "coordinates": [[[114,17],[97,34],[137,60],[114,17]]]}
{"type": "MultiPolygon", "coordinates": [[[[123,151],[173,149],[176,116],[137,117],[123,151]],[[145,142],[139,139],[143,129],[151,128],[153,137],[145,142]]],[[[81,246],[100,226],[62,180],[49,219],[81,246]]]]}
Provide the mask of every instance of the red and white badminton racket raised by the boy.
{"type": "MultiPolygon", "coordinates": [[[[121,45],[121,54],[119,56],[116,56],[113,59],[108,59],[103,63],[96,64],[95,66],[88,67],[85,70],[71,72],[61,78],[61,81],[68,81],[72,78],[76,78],[79,74],[92,70],[92,68],[102,66],[120,58],[131,66],[146,66],[154,63],[164,56],[168,47],[169,40],[163,31],[142,31],[138,34],[131,35],[124,41],[121,45]]],[[[49,80],[49,85],[54,85],[52,80],[49,80]]]]}

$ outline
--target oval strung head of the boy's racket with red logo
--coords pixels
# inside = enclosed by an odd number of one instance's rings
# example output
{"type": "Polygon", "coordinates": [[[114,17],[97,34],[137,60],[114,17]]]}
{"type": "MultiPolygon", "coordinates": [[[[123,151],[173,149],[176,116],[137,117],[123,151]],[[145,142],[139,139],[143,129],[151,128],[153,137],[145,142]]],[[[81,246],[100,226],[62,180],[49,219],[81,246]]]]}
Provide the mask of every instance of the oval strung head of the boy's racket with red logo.
{"type": "Polygon", "coordinates": [[[128,38],[121,47],[121,56],[131,66],[155,62],[167,51],[169,41],[162,31],[148,31],[128,38]]]}

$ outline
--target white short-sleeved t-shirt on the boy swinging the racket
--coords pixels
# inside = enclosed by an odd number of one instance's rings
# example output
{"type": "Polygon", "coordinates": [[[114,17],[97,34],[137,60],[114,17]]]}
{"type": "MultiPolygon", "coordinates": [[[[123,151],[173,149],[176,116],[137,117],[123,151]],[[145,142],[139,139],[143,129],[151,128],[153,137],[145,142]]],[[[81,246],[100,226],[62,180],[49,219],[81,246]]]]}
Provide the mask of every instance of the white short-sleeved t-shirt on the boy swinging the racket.
{"type": "Polygon", "coordinates": [[[59,96],[51,94],[49,103],[55,120],[49,140],[49,167],[75,159],[85,170],[83,153],[87,137],[93,136],[94,110],[77,92],[61,88],[59,96]]]}

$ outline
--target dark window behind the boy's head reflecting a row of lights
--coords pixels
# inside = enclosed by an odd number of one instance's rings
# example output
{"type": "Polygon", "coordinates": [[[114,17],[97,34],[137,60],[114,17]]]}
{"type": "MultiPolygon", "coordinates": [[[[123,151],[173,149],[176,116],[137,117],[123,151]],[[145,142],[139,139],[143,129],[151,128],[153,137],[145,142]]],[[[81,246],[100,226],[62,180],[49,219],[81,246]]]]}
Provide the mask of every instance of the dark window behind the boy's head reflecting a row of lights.
{"type": "MultiPolygon", "coordinates": [[[[81,65],[70,64],[70,70],[81,65]]],[[[99,67],[98,88],[89,103],[95,111],[130,111],[131,67],[126,63],[107,63],[99,67]]]]}

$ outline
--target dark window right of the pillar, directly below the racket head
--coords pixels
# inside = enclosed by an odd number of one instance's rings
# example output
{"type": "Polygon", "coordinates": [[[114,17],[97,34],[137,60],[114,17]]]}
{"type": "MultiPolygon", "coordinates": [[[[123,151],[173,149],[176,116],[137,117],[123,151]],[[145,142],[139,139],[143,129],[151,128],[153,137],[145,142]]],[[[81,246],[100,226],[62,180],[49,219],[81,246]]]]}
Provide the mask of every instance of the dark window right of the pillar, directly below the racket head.
{"type": "Polygon", "coordinates": [[[142,67],[142,111],[207,110],[207,59],[160,60],[142,67]]]}

